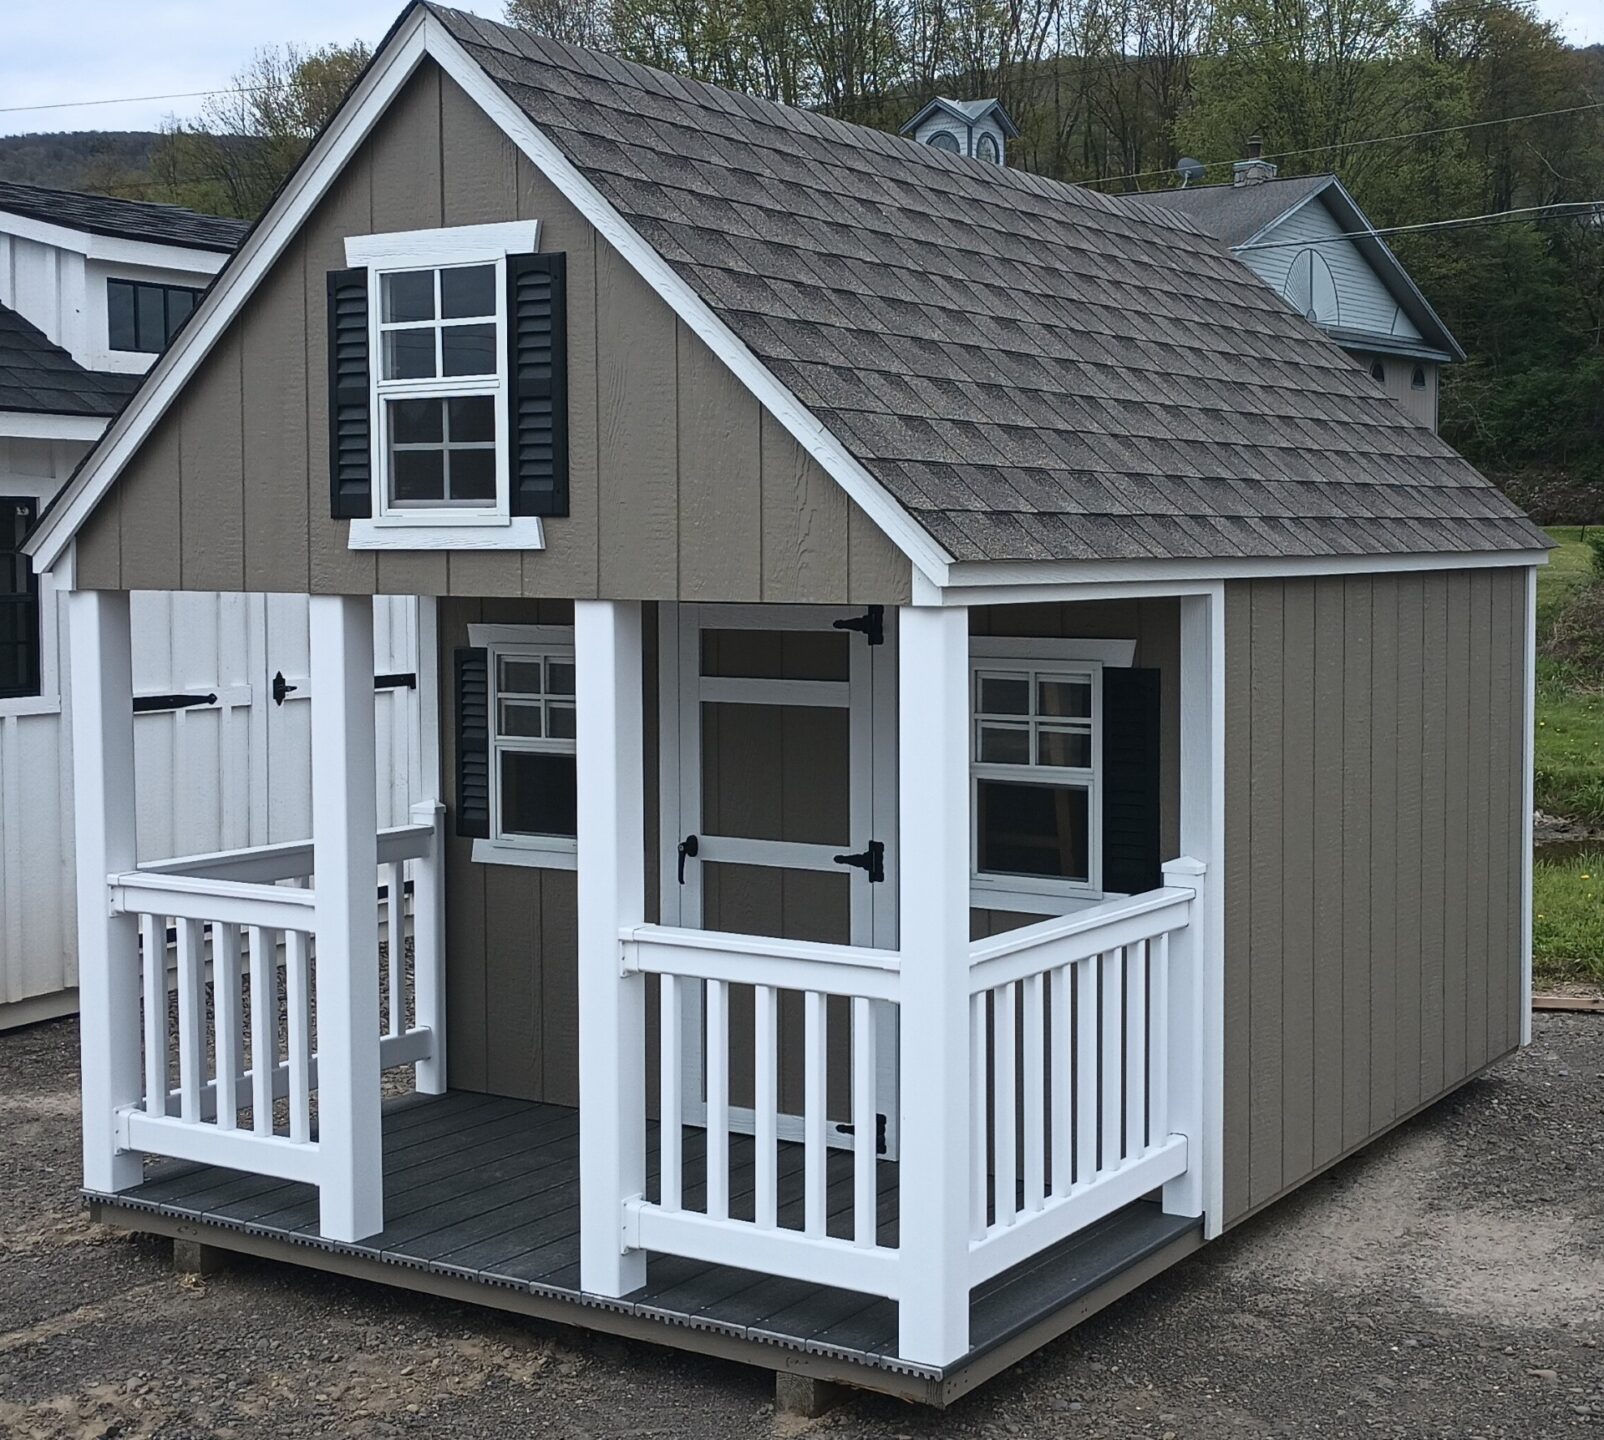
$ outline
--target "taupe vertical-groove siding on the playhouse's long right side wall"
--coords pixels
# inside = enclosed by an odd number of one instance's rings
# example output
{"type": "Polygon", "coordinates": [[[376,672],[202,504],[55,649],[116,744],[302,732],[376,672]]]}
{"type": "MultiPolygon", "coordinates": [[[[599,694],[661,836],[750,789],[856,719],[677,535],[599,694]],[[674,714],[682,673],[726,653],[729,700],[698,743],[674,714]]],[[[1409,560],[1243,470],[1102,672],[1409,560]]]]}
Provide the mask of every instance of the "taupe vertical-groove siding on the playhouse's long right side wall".
{"type": "Polygon", "coordinates": [[[1521,1042],[1525,571],[1225,587],[1225,1222],[1521,1042]]]}

